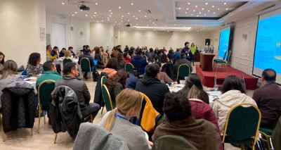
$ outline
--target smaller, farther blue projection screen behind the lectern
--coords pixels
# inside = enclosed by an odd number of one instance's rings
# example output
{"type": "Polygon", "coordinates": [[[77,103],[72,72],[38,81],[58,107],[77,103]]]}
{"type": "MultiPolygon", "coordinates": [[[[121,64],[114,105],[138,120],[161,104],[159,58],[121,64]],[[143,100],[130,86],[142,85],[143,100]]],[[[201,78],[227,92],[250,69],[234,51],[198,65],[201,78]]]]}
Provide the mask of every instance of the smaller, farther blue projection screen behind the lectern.
{"type": "Polygon", "coordinates": [[[218,58],[222,59],[226,51],[228,51],[229,37],[230,37],[230,27],[221,30],[221,36],[218,46],[218,58]]]}

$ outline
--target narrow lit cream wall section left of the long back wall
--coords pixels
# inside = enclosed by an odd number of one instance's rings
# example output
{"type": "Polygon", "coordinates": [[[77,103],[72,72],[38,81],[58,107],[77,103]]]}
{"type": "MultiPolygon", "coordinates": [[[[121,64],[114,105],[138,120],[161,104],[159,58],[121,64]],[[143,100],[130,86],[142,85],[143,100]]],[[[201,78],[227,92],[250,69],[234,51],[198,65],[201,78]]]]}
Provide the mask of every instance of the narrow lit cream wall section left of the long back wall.
{"type": "Polygon", "coordinates": [[[112,49],[114,40],[114,27],[112,23],[91,23],[90,24],[90,46],[103,46],[112,49]]]}

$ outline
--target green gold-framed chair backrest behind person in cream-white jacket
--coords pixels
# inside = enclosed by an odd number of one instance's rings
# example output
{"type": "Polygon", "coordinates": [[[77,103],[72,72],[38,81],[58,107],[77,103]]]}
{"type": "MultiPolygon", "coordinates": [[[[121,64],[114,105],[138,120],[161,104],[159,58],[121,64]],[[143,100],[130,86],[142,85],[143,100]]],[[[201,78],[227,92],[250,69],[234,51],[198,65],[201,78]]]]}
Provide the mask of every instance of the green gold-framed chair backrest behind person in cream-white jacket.
{"type": "Polygon", "coordinates": [[[254,144],[259,137],[261,112],[254,104],[237,104],[228,111],[223,132],[223,142],[226,136],[235,140],[254,137],[254,144]]]}

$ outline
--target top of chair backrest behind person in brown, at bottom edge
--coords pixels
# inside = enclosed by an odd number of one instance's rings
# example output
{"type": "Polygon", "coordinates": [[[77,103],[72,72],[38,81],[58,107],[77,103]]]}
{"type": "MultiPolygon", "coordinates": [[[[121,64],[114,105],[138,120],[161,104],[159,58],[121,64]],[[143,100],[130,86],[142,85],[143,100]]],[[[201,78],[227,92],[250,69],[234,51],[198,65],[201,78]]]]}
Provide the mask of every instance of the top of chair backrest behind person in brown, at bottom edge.
{"type": "Polygon", "coordinates": [[[177,135],[164,135],[155,140],[152,150],[197,150],[184,137],[177,135]]]}

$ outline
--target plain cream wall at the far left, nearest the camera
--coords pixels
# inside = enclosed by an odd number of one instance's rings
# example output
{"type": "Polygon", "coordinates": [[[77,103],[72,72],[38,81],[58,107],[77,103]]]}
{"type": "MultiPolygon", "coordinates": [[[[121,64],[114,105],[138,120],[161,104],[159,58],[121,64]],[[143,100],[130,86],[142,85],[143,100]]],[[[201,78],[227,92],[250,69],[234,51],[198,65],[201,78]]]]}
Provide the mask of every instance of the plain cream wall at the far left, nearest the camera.
{"type": "Polygon", "coordinates": [[[0,49],[18,65],[26,65],[32,52],[46,60],[46,39],[39,27],[46,27],[44,0],[0,1],[0,49]]]}

